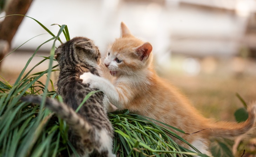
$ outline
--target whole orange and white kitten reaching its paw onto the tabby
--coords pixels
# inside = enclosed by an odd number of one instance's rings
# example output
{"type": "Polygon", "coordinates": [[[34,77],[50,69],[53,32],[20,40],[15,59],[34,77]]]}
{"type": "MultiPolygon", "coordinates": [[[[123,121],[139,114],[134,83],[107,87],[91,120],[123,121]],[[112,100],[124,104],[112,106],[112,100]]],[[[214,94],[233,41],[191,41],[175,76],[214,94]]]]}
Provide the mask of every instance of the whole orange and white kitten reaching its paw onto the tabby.
{"type": "MultiPolygon", "coordinates": [[[[118,109],[129,109],[130,112],[159,120],[187,133],[212,129],[190,135],[173,130],[208,155],[211,136],[235,137],[247,133],[254,126],[256,105],[248,107],[249,118],[243,123],[215,122],[204,118],[176,88],[157,76],[152,63],[151,44],[135,38],[124,23],[121,23],[121,31],[121,37],[110,45],[104,61],[110,74],[115,76],[113,84],[91,73],[80,77],[91,88],[103,91],[118,109]]],[[[176,138],[173,140],[188,148],[176,138]]]]}

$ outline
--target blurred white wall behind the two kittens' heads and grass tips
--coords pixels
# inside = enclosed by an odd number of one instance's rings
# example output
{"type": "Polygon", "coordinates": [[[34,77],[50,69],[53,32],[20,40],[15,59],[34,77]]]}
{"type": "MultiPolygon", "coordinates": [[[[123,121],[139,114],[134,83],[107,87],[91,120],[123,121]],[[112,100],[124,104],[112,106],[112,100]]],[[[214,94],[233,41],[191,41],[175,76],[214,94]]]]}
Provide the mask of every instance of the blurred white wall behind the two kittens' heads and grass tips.
{"type": "MultiPolygon", "coordinates": [[[[187,1],[176,0],[174,3],[169,0],[167,5],[160,5],[127,0],[34,0],[27,15],[40,21],[55,35],[59,27],[51,24],[67,24],[71,38],[91,38],[102,53],[120,36],[121,21],[135,36],[151,42],[156,55],[163,56],[171,51],[202,56],[237,53],[248,16],[180,5],[187,1]]],[[[14,37],[13,48],[41,33],[46,31],[32,19],[24,18],[14,37]]],[[[34,50],[50,37],[41,35],[22,47],[34,50]]],[[[61,39],[65,41],[63,36],[61,39]]],[[[52,42],[42,49],[49,50],[51,45],[52,42]]]]}

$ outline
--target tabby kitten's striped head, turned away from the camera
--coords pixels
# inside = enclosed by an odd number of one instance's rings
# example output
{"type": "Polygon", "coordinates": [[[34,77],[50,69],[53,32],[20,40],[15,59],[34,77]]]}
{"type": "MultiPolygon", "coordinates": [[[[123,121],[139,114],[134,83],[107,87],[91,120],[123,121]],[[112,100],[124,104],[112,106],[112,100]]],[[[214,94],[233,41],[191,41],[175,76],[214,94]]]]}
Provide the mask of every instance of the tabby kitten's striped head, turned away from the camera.
{"type": "Polygon", "coordinates": [[[55,59],[61,68],[74,69],[77,66],[97,66],[100,64],[100,52],[93,40],[75,37],[55,50],[55,59]]]}

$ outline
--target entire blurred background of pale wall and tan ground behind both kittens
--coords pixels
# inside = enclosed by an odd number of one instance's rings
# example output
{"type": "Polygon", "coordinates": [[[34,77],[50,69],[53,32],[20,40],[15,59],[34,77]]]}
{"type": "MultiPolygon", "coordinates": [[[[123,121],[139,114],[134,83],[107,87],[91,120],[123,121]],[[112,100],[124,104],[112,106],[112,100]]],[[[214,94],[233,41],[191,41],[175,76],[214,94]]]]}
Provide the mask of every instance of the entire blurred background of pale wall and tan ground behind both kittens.
{"type": "MultiPolygon", "coordinates": [[[[120,37],[123,21],[134,36],[153,45],[159,75],[206,117],[234,121],[234,112],[243,106],[236,93],[247,103],[256,100],[256,0],[33,0],[26,15],[55,35],[59,27],[51,24],[66,24],[71,38],[93,39],[103,56],[120,37]]],[[[14,82],[36,48],[50,38],[25,17],[11,50],[31,40],[1,61],[0,75],[14,82]]],[[[48,56],[51,46],[43,45],[38,54],[48,56]]],[[[41,59],[35,58],[31,67],[41,59]]]]}

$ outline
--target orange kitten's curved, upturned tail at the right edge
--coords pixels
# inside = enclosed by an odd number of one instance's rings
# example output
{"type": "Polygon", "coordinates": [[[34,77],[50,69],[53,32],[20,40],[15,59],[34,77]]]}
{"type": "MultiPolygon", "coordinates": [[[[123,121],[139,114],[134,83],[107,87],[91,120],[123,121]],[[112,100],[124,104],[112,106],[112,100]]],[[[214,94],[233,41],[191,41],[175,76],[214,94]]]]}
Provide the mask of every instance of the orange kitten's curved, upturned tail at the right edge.
{"type": "Polygon", "coordinates": [[[236,122],[215,122],[210,125],[213,130],[211,136],[214,137],[236,137],[246,134],[252,128],[256,127],[256,103],[248,106],[249,117],[241,123],[236,122]]]}

